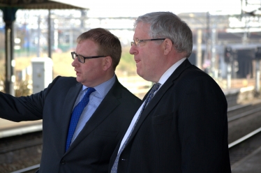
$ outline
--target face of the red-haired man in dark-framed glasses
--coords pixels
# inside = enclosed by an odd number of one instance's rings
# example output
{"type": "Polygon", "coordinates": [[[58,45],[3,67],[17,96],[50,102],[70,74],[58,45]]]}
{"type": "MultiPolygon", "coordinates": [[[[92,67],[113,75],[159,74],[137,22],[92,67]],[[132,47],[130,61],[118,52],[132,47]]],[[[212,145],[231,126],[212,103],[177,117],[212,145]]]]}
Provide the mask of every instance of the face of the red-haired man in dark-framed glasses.
{"type": "MultiPolygon", "coordinates": [[[[98,45],[92,40],[82,40],[77,44],[75,53],[83,57],[93,57],[97,54],[98,45]]],[[[103,80],[105,70],[103,70],[104,58],[85,59],[85,63],[80,63],[78,59],[73,60],[72,66],[76,71],[77,82],[87,87],[96,87],[103,80]]]]}

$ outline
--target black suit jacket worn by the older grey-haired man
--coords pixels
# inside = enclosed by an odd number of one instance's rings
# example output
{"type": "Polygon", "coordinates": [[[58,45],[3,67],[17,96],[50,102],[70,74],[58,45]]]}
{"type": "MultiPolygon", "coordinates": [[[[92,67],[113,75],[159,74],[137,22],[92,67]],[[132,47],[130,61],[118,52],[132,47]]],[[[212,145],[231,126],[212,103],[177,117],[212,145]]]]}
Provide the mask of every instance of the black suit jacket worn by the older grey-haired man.
{"type": "Polygon", "coordinates": [[[118,173],[231,172],[227,108],[218,84],[186,59],[142,112],[118,173]]]}

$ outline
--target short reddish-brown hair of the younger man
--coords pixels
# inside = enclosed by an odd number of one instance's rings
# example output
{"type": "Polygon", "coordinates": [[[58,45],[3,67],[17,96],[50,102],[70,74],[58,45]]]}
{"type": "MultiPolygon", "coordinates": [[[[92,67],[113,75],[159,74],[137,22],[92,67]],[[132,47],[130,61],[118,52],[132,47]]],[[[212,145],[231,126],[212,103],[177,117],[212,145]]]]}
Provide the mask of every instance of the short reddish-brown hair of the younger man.
{"type": "Polygon", "coordinates": [[[82,40],[94,41],[98,45],[97,54],[112,57],[112,68],[116,69],[121,59],[121,42],[117,36],[107,29],[96,28],[78,36],[77,43],[81,43],[82,40]]]}

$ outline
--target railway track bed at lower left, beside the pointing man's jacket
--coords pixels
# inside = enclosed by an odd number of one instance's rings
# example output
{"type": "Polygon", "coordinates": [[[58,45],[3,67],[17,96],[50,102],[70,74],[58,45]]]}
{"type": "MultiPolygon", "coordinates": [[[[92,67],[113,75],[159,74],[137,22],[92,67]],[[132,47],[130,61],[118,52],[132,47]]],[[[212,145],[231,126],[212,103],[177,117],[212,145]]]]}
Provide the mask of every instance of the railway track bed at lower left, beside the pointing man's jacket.
{"type": "MultiPolygon", "coordinates": [[[[37,165],[40,163],[41,153],[41,131],[0,138],[0,172],[10,173],[37,165]]],[[[35,171],[31,170],[27,173],[35,171]]]]}

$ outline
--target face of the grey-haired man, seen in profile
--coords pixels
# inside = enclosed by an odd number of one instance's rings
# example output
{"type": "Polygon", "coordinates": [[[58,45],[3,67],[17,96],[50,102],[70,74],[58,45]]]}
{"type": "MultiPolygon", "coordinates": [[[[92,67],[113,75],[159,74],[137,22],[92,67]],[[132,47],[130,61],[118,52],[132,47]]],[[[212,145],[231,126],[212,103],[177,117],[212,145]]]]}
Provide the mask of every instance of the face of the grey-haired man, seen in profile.
{"type": "MultiPolygon", "coordinates": [[[[139,22],[135,28],[133,40],[151,39],[149,36],[149,24],[139,22]]],[[[140,46],[130,47],[130,54],[134,55],[136,61],[137,74],[144,80],[158,82],[161,78],[161,61],[163,49],[156,41],[146,41],[140,43],[140,46]]]]}

